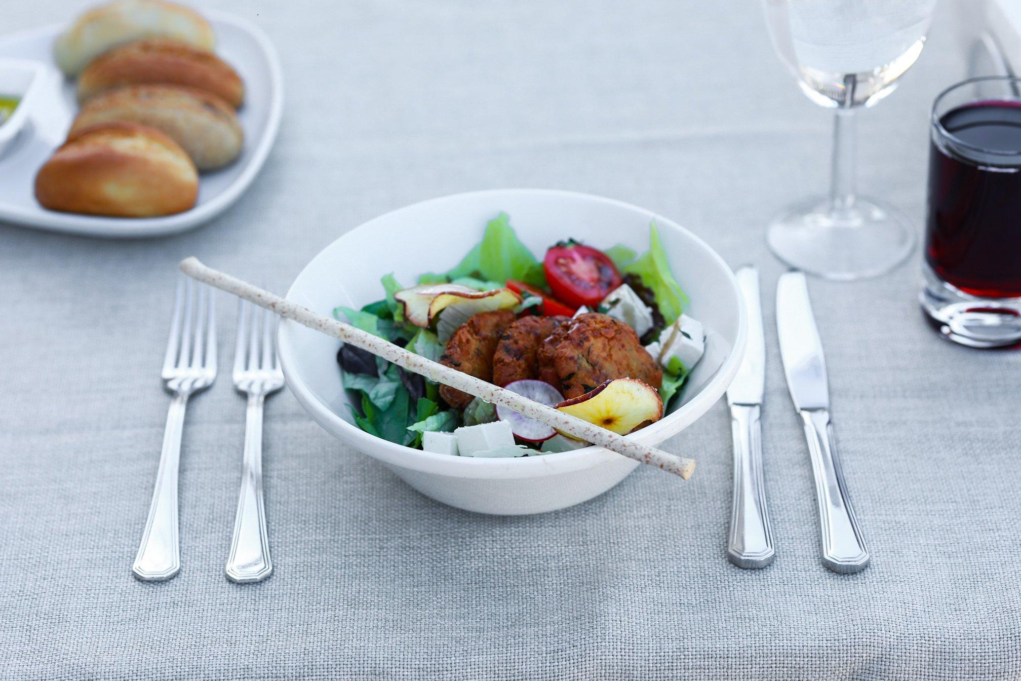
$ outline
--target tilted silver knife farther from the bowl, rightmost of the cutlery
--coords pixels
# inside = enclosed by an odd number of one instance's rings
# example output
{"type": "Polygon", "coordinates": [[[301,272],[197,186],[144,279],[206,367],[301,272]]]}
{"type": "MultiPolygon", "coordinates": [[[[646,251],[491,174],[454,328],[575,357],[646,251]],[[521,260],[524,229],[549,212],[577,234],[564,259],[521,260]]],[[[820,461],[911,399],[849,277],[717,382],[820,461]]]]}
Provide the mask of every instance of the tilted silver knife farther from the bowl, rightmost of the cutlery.
{"type": "Polygon", "coordinates": [[[812,455],[823,565],[838,573],[860,572],[869,565],[869,549],[858,527],[836,454],[829,415],[826,361],[812,315],[809,287],[800,272],[788,272],[780,277],[776,287],[776,326],[787,388],[794,408],[805,422],[805,435],[812,455]]]}

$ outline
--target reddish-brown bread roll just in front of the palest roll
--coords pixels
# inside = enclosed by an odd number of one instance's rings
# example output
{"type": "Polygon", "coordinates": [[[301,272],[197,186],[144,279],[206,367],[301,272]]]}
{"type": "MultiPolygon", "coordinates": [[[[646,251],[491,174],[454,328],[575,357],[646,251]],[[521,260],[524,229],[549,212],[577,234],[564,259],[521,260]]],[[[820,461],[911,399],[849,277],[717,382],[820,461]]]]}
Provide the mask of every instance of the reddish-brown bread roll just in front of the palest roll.
{"type": "Polygon", "coordinates": [[[241,77],[212,52],[154,38],[113,48],[93,61],[78,79],[78,99],[126,85],[183,85],[216,95],[237,108],[244,100],[241,77]]]}

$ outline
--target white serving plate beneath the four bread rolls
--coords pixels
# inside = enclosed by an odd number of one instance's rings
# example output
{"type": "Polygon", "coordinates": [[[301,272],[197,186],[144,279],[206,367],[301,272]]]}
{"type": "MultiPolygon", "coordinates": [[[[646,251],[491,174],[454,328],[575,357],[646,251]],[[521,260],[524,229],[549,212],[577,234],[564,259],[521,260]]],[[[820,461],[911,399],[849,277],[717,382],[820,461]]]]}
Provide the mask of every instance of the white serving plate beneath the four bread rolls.
{"type": "Polygon", "coordinates": [[[39,205],[33,193],[36,172],[63,143],[78,112],[75,83],[63,77],[52,56],[53,41],[64,27],[49,26],[0,38],[0,57],[31,59],[45,66],[25,129],[0,155],[0,221],[95,237],[156,237],[198,227],[240,198],[262,167],[280,127],[284,104],[280,59],[257,27],[224,12],[203,11],[203,15],[216,33],[216,54],[245,82],[245,103],[238,111],[245,144],[234,163],[200,176],[195,207],[165,217],[101,217],[39,205]]]}

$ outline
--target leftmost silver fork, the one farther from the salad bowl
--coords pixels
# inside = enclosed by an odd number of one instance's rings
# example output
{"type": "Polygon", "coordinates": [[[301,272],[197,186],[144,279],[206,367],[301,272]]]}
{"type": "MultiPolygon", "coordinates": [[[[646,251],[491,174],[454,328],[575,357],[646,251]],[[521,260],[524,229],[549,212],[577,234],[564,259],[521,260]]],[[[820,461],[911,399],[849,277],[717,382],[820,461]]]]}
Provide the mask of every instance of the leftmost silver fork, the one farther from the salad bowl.
{"type": "Polygon", "coordinates": [[[216,310],[212,289],[183,275],[178,280],[171,338],[163,356],[163,387],[174,395],[166,415],[156,487],[132,572],[144,581],[171,579],[181,570],[178,541],[178,464],[185,407],[216,378],[216,310]]]}

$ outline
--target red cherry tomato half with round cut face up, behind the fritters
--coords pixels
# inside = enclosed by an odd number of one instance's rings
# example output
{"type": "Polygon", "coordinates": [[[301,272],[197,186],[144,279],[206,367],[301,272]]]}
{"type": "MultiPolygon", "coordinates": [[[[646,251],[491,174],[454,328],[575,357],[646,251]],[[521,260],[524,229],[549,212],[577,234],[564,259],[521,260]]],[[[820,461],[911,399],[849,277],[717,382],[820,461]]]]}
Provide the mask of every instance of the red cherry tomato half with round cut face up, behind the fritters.
{"type": "Polygon", "coordinates": [[[542,267],[553,295],[569,305],[594,309],[622,281],[605,253],[573,241],[547,250],[542,267]]]}

